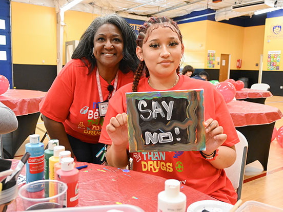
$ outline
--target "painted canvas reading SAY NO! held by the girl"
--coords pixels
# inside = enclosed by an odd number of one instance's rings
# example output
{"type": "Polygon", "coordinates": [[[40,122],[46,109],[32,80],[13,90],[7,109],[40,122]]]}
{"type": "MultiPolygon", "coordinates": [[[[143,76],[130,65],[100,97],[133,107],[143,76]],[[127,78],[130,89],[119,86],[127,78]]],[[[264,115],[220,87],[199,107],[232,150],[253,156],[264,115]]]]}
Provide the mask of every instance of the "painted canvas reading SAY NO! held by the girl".
{"type": "Polygon", "coordinates": [[[129,152],[205,149],[204,90],[126,93],[129,152]]]}

